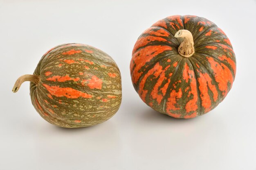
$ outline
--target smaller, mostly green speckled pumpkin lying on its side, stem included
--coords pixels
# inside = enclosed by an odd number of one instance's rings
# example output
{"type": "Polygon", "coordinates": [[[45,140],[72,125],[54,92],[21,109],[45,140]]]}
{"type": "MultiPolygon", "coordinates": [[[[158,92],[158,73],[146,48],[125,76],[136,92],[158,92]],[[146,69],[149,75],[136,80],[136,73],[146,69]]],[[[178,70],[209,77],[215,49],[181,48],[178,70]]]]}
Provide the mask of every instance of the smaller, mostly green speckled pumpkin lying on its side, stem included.
{"type": "Polygon", "coordinates": [[[121,104],[117,64],[108,54],[89,45],[62,44],[50,49],[33,75],[18,78],[13,92],[24,81],[31,81],[31,101],[40,116],[65,128],[104,122],[121,104]]]}

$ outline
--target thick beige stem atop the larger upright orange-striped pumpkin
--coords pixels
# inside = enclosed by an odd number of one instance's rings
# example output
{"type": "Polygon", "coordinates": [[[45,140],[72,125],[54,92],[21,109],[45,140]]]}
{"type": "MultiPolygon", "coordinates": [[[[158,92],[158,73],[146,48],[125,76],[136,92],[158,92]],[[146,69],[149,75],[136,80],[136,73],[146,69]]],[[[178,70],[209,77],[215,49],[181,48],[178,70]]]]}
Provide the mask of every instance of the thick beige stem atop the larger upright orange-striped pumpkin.
{"type": "Polygon", "coordinates": [[[183,40],[178,48],[178,52],[182,57],[189,58],[195,53],[193,36],[190,31],[179,30],[174,37],[183,40]]]}

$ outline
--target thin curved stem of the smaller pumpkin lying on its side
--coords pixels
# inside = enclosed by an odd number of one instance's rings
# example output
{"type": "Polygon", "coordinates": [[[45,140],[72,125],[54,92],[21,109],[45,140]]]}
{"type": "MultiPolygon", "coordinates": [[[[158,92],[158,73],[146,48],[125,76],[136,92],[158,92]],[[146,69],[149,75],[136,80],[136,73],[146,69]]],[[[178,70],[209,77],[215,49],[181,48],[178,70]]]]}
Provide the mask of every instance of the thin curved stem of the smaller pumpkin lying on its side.
{"type": "Polygon", "coordinates": [[[12,88],[12,92],[16,93],[18,92],[20,85],[24,82],[24,81],[32,81],[36,84],[38,84],[38,82],[40,81],[40,77],[36,76],[36,75],[31,75],[31,74],[25,74],[23,76],[20,76],[17,81],[15,82],[13,88],[12,88]]]}

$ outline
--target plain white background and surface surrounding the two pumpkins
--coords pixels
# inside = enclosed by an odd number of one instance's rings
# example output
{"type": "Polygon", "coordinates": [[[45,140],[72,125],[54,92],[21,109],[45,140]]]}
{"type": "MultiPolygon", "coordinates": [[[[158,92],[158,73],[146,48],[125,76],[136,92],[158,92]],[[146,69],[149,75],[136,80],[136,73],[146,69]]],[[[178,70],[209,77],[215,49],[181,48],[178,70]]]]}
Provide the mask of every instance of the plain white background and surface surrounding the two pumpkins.
{"type": "Polygon", "coordinates": [[[0,0],[0,170],[256,170],[256,1],[0,0]],[[139,35],[169,15],[198,15],[229,37],[234,85],[213,111],[177,120],[153,111],[132,87],[139,35]],[[41,56],[63,43],[107,52],[121,70],[123,100],[96,126],[63,129],[35,111],[29,83],[41,56]]]}

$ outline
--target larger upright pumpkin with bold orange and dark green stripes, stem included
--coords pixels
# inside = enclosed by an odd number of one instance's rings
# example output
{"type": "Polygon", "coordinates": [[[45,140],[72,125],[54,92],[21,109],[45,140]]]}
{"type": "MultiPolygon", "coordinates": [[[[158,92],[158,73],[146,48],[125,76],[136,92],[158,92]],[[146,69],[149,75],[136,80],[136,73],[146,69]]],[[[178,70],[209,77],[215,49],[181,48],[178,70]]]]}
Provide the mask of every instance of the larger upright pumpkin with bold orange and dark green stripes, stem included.
{"type": "Polygon", "coordinates": [[[174,118],[194,118],[227,96],[236,57],[216,24],[194,15],[174,15],[157,21],[137,39],[130,74],[148,106],[174,118]]]}

